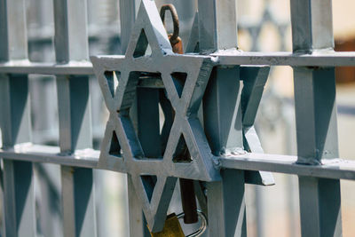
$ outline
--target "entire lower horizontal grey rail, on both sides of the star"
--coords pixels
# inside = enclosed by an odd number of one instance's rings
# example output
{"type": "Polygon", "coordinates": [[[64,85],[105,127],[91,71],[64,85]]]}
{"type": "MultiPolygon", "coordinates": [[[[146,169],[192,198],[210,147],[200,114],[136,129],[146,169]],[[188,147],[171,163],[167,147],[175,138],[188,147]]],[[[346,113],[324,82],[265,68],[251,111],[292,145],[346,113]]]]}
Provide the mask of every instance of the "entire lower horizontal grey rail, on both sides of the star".
{"type": "MultiPolygon", "coordinates": [[[[98,169],[99,151],[78,150],[75,154],[60,154],[57,146],[41,146],[29,143],[11,149],[0,149],[0,157],[9,160],[50,162],[73,167],[98,169]]],[[[355,180],[355,161],[333,159],[323,165],[296,164],[297,157],[280,154],[240,154],[219,157],[222,169],[263,170],[318,178],[355,180]]]]}

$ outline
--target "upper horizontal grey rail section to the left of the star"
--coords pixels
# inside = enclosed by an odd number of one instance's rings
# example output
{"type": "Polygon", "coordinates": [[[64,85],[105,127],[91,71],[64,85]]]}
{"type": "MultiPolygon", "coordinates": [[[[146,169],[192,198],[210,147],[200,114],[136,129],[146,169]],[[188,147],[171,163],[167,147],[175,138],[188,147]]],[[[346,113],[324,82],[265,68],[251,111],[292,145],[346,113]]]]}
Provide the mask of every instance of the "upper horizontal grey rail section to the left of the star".
{"type": "Polygon", "coordinates": [[[89,61],[52,64],[19,60],[0,63],[0,74],[93,75],[94,72],[92,64],[89,61]]]}

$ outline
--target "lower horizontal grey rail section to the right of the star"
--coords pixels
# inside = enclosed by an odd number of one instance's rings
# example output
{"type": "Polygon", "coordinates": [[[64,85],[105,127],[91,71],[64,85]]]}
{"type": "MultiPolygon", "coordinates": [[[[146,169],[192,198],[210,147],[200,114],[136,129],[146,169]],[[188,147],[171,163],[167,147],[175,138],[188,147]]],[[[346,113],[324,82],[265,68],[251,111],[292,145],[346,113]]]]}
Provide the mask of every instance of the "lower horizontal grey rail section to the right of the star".
{"type": "Polygon", "coordinates": [[[280,154],[240,154],[219,159],[220,167],[237,170],[263,170],[317,178],[355,180],[355,161],[332,159],[322,165],[296,163],[297,156],[280,154]]]}

